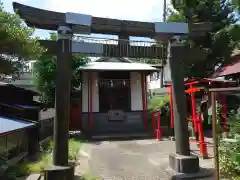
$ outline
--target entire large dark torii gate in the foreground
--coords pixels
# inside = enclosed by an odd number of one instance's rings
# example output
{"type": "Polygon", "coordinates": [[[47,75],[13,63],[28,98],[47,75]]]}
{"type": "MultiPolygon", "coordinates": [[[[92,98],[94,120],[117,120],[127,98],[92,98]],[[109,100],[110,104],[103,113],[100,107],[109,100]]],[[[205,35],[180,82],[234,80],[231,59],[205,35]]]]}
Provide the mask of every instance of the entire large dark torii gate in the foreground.
{"type": "Polygon", "coordinates": [[[166,49],[157,46],[133,46],[129,36],[150,37],[158,40],[170,40],[169,62],[173,82],[174,127],[176,154],[170,155],[171,167],[181,173],[199,171],[199,160],[190,155],[186,106],[184,106],[184,75],[182,60],[187,58],[204,59],[206,53],[199,49],[189,50],[179,41],[179,37],[203,35],[210,30],[206,23],[163,23],[137,22],[117,19],[99,18],[77,13],[59,13],[13,3],[16,13],[30,27],[58,32],[58,40],[41,41],[50,53],[57,54],[56,74],[56,116],[54,120],[54,171],[46,171],[46,179],[63,180],[65,176],[72,179],[73,170],[68,164],[68,126],[70,118],[70,59],[72,53],[89,56],[113,56],[131,58],[160,59],[166,56],[166,49]],[[72,41],[73,34],[110,34],[118,35],[117,45],[72,41]],[[177,38],[175,38],[177,36],[177,38]],[[64,167],[64,168],[62,168],[64,167]],[[61,170],[65,172],[61,173],[61,170]],[[50,172],[57,172],[50,173],[50,172]],[[68,174],[68,175],[66,175],[68,174]]]}

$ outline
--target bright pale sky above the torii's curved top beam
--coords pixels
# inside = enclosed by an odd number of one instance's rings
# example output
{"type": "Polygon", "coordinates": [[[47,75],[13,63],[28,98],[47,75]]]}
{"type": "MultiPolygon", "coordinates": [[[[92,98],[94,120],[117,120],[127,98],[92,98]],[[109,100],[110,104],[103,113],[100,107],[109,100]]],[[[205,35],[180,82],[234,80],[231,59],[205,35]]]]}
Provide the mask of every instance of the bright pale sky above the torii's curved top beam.
{"type": "MultiPolygon", "coordinates": [[[[25,5],[58,11],[89,14],[123,20],[159,22],[163,17],[163,0],[14,0],[25,5]]],[[[2,0],[5,10],[13,12],[13,0],[2,0]]],[[[170,0],[167,0],[169,3],[170,0]]],[[[36,30],[36,36],[48,37],[46,30],[36,30]]],[[[93,35],[94,36],[94,35],[93,35]]],[[[98,35],[98,37],[103,35],[98,35]]],[[[109,37],[109,36],[108,36],[109,37]]],[[[114,37],[111,37],[114,38],[114,37]]]]}

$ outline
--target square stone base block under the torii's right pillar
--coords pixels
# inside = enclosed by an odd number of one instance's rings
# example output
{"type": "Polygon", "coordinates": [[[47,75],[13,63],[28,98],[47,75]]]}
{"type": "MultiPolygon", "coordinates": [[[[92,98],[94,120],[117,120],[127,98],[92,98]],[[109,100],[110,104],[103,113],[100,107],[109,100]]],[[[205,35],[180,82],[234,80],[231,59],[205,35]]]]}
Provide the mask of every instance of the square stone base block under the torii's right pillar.
{"type": "Polygon", "coordinates": [[[197,156],[169,155],[169,165],[177,173],[197,173],[200,169],[197,156]]]}

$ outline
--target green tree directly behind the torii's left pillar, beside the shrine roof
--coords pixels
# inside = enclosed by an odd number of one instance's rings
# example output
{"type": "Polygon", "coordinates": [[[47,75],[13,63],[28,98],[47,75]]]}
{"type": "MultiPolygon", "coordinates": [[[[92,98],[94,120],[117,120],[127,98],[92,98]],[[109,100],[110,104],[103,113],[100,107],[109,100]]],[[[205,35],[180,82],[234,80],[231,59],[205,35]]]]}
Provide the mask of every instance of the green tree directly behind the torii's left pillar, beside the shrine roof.
{"type": "MultiPolygon", "coordinates": [[[[56,40],[56,33],[50,33],[50,40],[56,40]]],[[[84,56],[72,57],[72,92],[80,86],[81,71],[80,66],[85,65],[90,59],[84,56]]],[[[56,56],[47,52],[43,53],[34,65],[34,82],[36,88],[41,92],[41,102],[53,107],[55,97],[55,74],[56,56]]]]}

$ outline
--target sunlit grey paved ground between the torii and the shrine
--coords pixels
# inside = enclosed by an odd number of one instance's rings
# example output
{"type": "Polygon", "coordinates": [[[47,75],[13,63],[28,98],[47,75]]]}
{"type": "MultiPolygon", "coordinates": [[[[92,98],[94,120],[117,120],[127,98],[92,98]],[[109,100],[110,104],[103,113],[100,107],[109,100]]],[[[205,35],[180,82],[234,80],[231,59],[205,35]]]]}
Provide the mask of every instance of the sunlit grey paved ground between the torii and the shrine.
{"type": "MultiPolygon", "coordinates": [[[[191,149],[197,153],[195,144],[191,143],[191,149]]],[[[86,173],[104,180],[169,179],[168,157],[174,152],[175,143],[170,140],[89,142],[83,145],[76,174],[86,173]]],[[[200,165],[212,168],[213,159],[200,158],[200,165]]]]}

